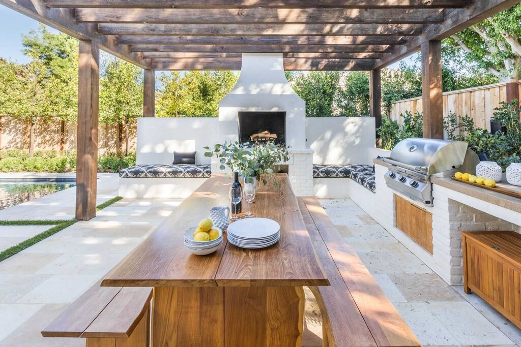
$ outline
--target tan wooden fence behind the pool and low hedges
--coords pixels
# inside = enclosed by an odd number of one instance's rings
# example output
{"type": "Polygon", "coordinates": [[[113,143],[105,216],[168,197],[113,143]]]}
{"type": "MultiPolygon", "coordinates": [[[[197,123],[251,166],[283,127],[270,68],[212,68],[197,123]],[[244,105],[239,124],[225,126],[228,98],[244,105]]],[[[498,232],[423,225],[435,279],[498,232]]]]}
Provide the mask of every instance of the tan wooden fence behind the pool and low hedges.
{"type": "MultiPolygon", "coordinates": [[[[0,116],[0,149],[26,149],[30,146],[30,123],[9,115],[0,116]]],[[[60,120],[34,122],[35,150],[76,150],[77,124],[60,120]]],[[[98,150],[116,152],[125,149],[125,130],[121,126],[100,124],[98,150]]],[[[135,150],[136,123],[129,126],[129,147],[135,150]]]]}

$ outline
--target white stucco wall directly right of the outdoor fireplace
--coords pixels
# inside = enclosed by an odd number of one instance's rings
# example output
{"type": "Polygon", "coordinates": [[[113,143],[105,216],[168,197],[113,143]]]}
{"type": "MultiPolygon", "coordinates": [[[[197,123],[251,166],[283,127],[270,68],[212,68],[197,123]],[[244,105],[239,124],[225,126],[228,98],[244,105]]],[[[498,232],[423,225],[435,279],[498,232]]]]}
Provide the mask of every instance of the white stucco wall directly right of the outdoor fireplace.
{"type": "Polygon", "coordinates": [[[306,118],[306,139],[315,151],[314,164],[372,164],[368,152],[376,143],[375,119],[306,118]]]}

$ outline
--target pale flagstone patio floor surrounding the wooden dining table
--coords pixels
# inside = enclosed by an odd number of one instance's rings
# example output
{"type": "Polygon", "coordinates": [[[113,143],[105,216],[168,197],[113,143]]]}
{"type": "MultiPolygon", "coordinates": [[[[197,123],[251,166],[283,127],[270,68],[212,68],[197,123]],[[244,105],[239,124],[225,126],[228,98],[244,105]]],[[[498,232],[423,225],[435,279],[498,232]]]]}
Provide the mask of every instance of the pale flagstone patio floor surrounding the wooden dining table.
{"type": "MultiPolygon", "coordinates": [[[[116,196],[116,175],[104,175],[98,183],[102,192],[98,203],[116,196]]],[[[0,211],[0,220],[70,218],[74,191],[64,190],[0,211]]],[[[100,211],[95,219],[78,222],[0,262],[0,346],[84,345],[81,339],[42,338],[40,330],[179,203],[181,200],[123,199],[100,211]]],[[[424,345],[505,347],[521,343],[519,329],[475,295],[446,285],[351,200],[321,203],[424,345]]],[[[24,229],[21,234],[37,231],[24,229]]],[[[320,313],[311,292],[306,294],[303,342],[321,346],[320,313]]]]}

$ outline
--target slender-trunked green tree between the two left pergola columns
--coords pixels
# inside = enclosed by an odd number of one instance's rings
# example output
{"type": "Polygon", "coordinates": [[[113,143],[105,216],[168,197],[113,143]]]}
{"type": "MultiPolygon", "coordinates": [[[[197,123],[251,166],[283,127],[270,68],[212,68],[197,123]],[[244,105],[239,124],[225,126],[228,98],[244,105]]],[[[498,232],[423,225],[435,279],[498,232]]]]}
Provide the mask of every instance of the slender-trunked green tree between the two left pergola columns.
{"type": "Polygon", "coordinates": [[[100,120],[125,128],[129,152],[129,123],[143,115],[143,70],[116,57],[104,58],[100,79],[100,120]]]}

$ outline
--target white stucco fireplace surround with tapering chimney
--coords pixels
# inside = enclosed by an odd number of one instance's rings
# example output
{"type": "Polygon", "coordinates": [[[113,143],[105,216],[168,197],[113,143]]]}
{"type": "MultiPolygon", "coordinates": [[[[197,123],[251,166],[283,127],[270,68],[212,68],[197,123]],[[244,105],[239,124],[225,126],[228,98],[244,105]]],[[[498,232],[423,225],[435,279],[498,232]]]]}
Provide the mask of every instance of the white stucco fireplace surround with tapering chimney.
{"type": "Polygon", "coordinates": [[[286,144],[306,148],[306,103],[284,75],[282,54],[244,53],[239,81],[219,102],[219,140],[238,140],[240,111],[286,112],[286,144]]]}

